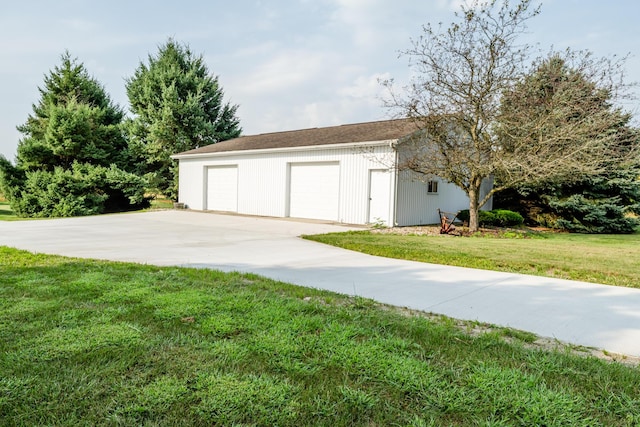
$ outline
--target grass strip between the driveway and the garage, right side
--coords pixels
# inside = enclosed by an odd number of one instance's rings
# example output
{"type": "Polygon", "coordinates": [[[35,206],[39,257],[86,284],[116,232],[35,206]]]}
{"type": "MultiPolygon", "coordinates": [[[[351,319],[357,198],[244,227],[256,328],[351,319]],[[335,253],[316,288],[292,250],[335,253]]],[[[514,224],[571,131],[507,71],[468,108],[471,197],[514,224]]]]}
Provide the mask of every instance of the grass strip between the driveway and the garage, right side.
{"type": "Polygon", "coordinates": [[[493,238],[355,231],[305,237],[390,258],[640,288],[640,233],[493,238]]]}

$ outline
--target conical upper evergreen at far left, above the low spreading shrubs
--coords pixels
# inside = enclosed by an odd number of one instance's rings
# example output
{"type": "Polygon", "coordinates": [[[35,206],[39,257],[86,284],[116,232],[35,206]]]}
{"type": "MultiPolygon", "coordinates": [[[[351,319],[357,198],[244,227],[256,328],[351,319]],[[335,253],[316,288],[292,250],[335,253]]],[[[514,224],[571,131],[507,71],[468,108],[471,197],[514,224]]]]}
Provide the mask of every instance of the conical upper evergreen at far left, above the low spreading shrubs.
{"type": "Polygon", "coordinates": [[[127,168],[127,142],[120,129],[124,113],[84,65],[67,52],[44,83],[33,114],[18,126],[24,138],[17,166],[53,170],[77,161],[127,168]]]}

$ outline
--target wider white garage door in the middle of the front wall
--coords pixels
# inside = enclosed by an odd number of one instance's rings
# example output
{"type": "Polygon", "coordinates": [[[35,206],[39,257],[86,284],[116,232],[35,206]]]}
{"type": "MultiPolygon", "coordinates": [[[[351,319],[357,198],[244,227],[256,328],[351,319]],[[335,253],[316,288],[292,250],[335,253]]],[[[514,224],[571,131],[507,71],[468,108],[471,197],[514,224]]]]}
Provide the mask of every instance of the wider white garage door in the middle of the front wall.
{"type": "Polygon", "coordinates": [[[292,164],[290,179],[290,217],[338,220],[338,163],[292,164]]]}

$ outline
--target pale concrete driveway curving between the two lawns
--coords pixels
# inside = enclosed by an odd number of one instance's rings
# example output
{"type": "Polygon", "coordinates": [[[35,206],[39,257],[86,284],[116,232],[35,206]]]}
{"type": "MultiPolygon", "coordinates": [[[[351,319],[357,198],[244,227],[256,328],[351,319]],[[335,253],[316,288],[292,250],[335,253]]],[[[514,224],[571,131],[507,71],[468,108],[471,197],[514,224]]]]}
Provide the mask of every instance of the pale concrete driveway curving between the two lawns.
{"type": "Polygon", "coordinates": [[[82,258],[252,272],[640,356],[639,289],[393,260],[297,237],[349,229],[157,211],[0,221],[0,245],[82,258]]]}

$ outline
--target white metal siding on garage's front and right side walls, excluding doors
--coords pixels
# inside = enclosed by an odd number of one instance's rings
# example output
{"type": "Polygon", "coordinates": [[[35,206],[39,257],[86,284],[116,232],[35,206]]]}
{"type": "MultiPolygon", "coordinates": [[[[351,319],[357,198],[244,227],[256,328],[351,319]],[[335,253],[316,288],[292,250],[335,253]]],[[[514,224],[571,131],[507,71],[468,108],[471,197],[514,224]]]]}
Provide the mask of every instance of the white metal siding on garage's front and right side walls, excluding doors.
{"type": "MultiPolygon", "coordinates": [[[[340,165],[336,191],[337,213],[329,219],[348,224],[366,224],[372,219],[370,191],[374,195],[378,191],[371,187],[370,171],[392,168],[394,158],[395,153],[389,145],[369,146],[366,149],[323,147],[261,153],[217,153],[185,158],[180,159],[179,201],[191,209],[206,209],[208,168],[237,166],[238,213],[295,216],[295,209],[294,212],[289,210],[290,165],[334,163],[340,165]]],[[[373,172],[374,175],[375,173],[373,172]]],[[[438,194],[432,195],[427,194],[424,182],[410,176],[408,172],[390,172],[385,175],[385,179],[382,175],[376,176],[374,179],[379,179],[380,182],[374,185],[388,185],[390,189],[389,219],[386,225],[435,224],[438,222],[438,208],[446,211],[468,208],[466,194],[453,184],[438,180],[438,194]]],[[[375,209],[377,208],[374,207],[375,209]]],[[[328,217],[322,213],[319,216],[328,217]]]]}

